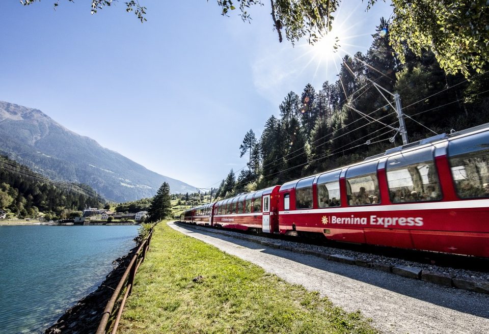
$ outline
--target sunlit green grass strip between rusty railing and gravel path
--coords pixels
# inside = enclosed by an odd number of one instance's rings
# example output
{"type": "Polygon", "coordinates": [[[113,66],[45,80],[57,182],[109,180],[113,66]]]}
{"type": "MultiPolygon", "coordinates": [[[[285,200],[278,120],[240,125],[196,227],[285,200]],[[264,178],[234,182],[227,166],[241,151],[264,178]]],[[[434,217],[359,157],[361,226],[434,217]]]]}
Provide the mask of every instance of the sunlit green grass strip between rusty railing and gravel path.
{"type": "Polygon", "coordinates": [[[291,285],[160,222],[121,333],[376,333],[317,292],[291,285]],[[196,280],[195,277],[202,276],[196,280]]]}

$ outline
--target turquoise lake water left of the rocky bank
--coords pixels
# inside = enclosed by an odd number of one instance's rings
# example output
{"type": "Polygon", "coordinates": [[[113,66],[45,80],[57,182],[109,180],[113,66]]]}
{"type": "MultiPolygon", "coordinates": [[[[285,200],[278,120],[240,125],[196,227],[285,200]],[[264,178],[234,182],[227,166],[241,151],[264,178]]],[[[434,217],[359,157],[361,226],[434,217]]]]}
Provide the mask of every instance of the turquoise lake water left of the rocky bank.
{"type": "Polygon", "coordinates": [[[37,333],[94,291],[137,226],[0,226],[0,333],[37,333]]]}

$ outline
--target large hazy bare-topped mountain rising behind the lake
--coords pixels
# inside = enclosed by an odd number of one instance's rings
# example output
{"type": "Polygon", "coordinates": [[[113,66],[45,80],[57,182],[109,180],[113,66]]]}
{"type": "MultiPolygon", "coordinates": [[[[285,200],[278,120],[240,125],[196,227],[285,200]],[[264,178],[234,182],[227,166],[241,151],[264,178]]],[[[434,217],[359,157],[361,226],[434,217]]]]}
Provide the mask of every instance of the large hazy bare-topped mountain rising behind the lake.
{"type": "Polygon", "coordinates": [[[163,182],[175,192],[195,187],[159,175],[55,122],[41,110],[0,101],[0,152],[51,178],[85,183],[107,200],[152,197],[163,182]]]}

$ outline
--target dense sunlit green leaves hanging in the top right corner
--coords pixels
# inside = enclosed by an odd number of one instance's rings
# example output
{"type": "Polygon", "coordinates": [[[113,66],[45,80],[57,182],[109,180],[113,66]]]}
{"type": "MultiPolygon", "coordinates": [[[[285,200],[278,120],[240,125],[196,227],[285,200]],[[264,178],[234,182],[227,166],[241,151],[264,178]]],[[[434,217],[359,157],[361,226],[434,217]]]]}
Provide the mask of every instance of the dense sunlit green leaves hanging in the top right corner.
{"type": "Polygon", "coordinates": [[[416,55],[434,53],[446,73],[469,77],[487,67],[489,7],[485,0],[422,0],[406,6],[394,0],[391,43],[401,61],[405,46],[416,55]]]}

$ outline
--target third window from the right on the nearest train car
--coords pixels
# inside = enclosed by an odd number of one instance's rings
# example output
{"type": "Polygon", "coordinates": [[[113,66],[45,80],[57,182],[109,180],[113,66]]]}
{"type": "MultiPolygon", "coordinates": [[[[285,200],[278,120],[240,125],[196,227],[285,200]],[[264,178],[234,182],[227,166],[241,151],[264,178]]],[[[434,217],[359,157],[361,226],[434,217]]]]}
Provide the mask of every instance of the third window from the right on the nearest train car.
{"type": "Polygon", "coordinates": [[[348,205],[372,205],[381,202],[377,180],[377,161],[348,168],[346,195],[348,205]]]}

